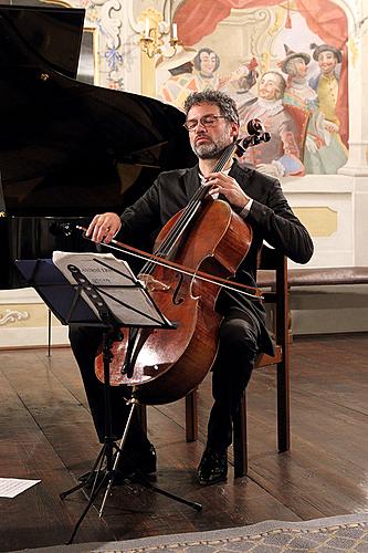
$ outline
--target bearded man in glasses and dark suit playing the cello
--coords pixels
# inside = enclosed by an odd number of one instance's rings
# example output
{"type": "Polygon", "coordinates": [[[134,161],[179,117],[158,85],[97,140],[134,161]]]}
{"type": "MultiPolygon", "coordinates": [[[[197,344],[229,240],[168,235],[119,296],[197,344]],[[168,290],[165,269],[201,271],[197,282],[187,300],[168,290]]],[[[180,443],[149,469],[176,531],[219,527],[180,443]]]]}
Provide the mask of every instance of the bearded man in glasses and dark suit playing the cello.
{"type": "MultiPolygon", "coordinates": [[[[161,173],[147,192],[127,208],[122,217],[113,212],[96,215],[86,234],[96,242],[108,243],[117,233],[123,241],[129,242],[134,236],[158,231],[186,207],[200,184],[206,182],[209,194],[213,198],[220,195],[253,230],[251,248],[236,271],[238,282],[255,285],[256,259],[263,240],[293,261],[306,263],[312,257],[313,243],[307,230],[288,206],[278,180],[243,168],[235,160],[229,170],[213,173],[224,149],[238,138],[239,115],[233,100],[218,91],[194,92],[186,100],[185,112],[185,126],[198,165],[161,173]]],[[[260,302],[251,302],[236,292],[223,290],[215,309],[223,319],[218,355],[212,367],[213,406],[207,446],[197,472],[199,483],[204,486],[225,480],[233,416],[240,407],[256,355],[272,351],[260,302]]],[[[70,338],[97,435],[103,441],[103,384],[94,373],[101,332],[71,327],[70,338]]],[[[116,438],[123,435],[128,413],[123,394],[122,387],[113,387],[113,432],[116,438]]],[[[129,427],[120,461],[118,468],[122,471],[139,469],[149,473],[156,470],[155,448],[138,420],[133,420],[129,427]]]]}

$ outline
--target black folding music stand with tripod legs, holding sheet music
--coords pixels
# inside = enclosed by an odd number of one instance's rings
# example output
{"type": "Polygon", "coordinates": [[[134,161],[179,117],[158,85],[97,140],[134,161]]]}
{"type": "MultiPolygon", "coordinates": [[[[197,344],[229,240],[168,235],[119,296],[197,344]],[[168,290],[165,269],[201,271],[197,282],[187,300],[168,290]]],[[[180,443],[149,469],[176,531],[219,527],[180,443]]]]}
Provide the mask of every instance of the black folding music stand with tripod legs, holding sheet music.
{"type": "MultiPolygon", "coordinates": [[[[48,307],[62,324],[96,326],[103,330],[105,437],[103,447],[93,465],[88,478],[60,494],[60,498],[64,499],[76,490],[91,488],[92,484],[88,503],[74,526],[67,542],[67,544],[70,544],[90,508],[94,504],[99,491],[104,488],[104,484],[106,484],[105,494],[99,508],[99,517],[103,514],[108,492],[117,472],[116,467],[124,448],[134,410],[138,405],[133,388],[133,397],[129,400],[130,410],[124,435],[119,444],[116,445],[116,438],[112,434],[111,409],[109,364],[112,359],[112,344],[116,340],[122,326],[128,328],[175,328],[175,324],[170,323],[159,311],[148,292],[145,290],[144,284],[138,281],[130,271],[128,263],[117,261],[111,254],[67,253],[65,255],[67,255],[65,260],[57,262],[59,268],[52,260],[41,259],[17,260],[15,265],[27,282],[36,290],[48,307]],[[114,262],[111,258],[113,258],[114,262]],[[78,263],[80,260],[82,260],[81,263],[78,263]],[[124,264],[117,268],[116,262],[124,264]],[[114,284],[93,283],[93,280],[96,281],[95,271],[98,273],[98,269],[101,268],[103,268],[102,270],[104,271],[112,271],[113,280],[115,280],[114,284]],[[84,274],[84,272],[88,272],[88,270],[92,270],[93,274],[90,279],[84,274]],[[127,291],[129,291],[128,294],[127,291]],[[138,306],[129,304],[128,302],[130,302],[133,296],[136,296],[137,293],[141,300],[140,302],[136,302],[138,306]],[[126,294],[129,296],[128,302],[124,301],[126,294]],[[149,315],[143,312],[143,305],[147,307],[149,315]],[[123,312],[132,314],[132,316],[129,316],[129,323],[126,323],[120,316],[117,316],[120,309],[123,309],[123,312]]],[[[104,280],[106,281],[106,279],[104,280]]],[[[130,359],[125,359],[125,365],[129,365],[129,361],[130,359]]],[[[128,374],[132,368],[133,367],[129,366],[125,367],[128,374]]],[[[125,478],[124,483],[129,482],[140,483],[155,492],[192,507],[198,511],[202,509],[200,503],[188,501],[153,486],[141,473],[139,473],[139,471],[135,472],[133,478],[125,478]]]]}

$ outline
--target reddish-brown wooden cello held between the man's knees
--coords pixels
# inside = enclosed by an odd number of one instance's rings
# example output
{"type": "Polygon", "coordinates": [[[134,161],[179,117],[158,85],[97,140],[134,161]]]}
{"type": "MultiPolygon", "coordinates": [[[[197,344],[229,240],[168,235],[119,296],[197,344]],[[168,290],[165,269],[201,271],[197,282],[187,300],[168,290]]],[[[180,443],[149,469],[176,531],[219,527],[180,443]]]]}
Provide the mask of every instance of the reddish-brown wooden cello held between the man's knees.
{"type": "MultiPolygon", "coordinates": [[[[250,136],[225,148],[213,173],[223,170],[234,154],[270,140],[257,119],[249,123],[248,131],[250,136]]],[[[201,383],[217,355],[222,316],[215,303],[221,284],[197,274],[233,278],[251,243],[249,223],[227,201],[213,200],[202,184],[155,242],[155,259],[174,260],[191,271],[148,261],[138,275],[176,328],[122,328],[122,340],[112,345],[111,385],[133,386],[138,401],[159,405],[185,397],[201,383]]],[[[260,300],[256,294],[252,298],[260,300]]],[[[103,382],[102,353],[95,372],[103,382]]]]}

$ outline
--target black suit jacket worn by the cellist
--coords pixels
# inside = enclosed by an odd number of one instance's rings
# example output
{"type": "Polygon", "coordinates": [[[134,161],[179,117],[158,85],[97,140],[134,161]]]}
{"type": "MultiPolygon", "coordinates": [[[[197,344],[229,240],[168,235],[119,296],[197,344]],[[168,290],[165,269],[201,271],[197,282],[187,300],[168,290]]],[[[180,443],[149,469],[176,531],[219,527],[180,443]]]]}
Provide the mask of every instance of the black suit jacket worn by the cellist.
{"type": "MultiPolygon", "coordinates": [[[[235,280],[255,285],[257,253],[263,240],[297,263],[306,263],[313,254],[313,242],[302,222],[295,217],[282,191],[278,180],[234,163],[230,175],[245,194],[253,199],[246,222],[253,229],[250,251],[239,267],[235,280]]],[[[200,186],[198,165],[192,168],[161,173],[147,192],[122,215],[120,234],[129,243],[155,236],[180,209],[200,186]]],[[[260,302],[243,295],[222,292],[221,309],[235,306],[246,310],[261,322],[263,351],[270,351],[270,337],[264,326],[264,312],[260,302]]]]}

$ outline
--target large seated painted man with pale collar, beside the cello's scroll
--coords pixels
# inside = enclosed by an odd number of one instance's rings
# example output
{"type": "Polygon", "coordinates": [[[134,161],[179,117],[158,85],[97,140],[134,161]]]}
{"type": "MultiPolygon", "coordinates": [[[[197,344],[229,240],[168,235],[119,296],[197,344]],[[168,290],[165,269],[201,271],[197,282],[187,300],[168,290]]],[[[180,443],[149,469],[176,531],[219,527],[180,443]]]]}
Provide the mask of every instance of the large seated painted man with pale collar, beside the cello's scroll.
{"type": "Polygon", "coordinates": [[[253,118],[261,119],[265,131],[271,134],[269,143],[249,148],[242,163],[276,178],[304,174],[297,128],[282,101],[285,88],[286,81],[281,73],[264,73],[259,84],[259,98],[240,114],[242,135],[248,134],[246,124],[253,118]]]}

